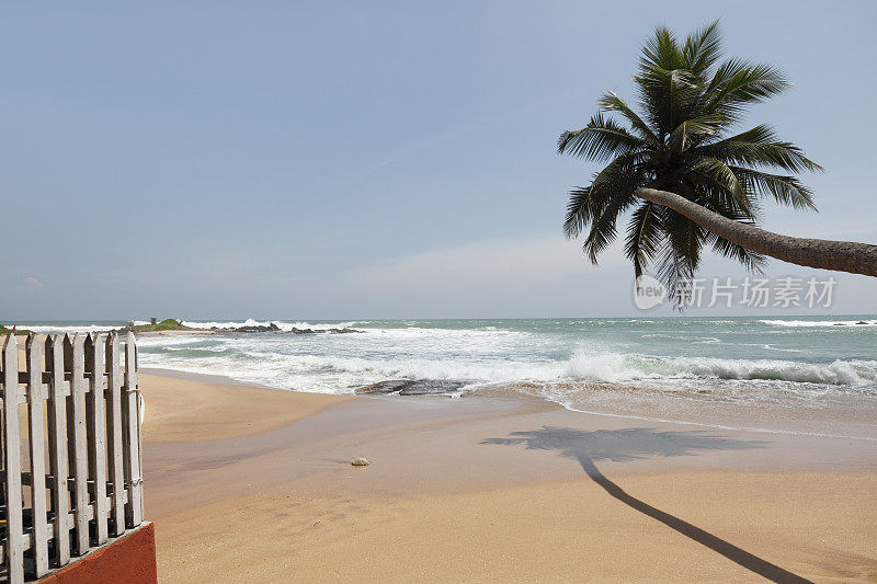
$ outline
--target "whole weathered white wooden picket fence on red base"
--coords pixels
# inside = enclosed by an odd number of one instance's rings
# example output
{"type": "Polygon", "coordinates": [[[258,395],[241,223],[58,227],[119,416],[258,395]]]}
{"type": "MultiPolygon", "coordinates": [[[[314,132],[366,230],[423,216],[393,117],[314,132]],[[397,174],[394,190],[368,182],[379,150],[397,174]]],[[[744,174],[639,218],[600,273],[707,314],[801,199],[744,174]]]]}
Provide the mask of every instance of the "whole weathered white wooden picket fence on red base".
{"type": "MultiPolygon", "coordinates": [[[[8,582],[38,579],[143,523],[137,345],[8,335],[0,363],[8,582]]],[[[1,579],[2,576],[0,576],[1,579]]]]}

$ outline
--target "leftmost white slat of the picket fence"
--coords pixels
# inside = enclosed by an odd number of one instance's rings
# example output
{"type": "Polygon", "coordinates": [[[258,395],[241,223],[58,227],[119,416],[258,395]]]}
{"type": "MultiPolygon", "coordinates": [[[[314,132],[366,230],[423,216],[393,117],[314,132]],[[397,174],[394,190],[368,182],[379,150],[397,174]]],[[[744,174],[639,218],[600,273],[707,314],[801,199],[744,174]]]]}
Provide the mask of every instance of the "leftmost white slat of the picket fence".
{"type": "Polygon", "coordinates": [[[19,343],[3,345],[3,440],[5,443],[7,569],[9,582],[24,582],[24,518],[21,496],[21,425],[19,423],[19,343]]]}

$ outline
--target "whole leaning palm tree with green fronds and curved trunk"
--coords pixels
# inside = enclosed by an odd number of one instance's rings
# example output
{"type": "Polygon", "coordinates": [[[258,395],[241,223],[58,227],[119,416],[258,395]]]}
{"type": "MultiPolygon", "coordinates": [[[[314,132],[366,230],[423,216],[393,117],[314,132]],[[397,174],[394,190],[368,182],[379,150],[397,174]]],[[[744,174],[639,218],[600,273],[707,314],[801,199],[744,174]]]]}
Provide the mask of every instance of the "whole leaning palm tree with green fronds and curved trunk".
{"type": "Polygon", "coordinates": [[[738,58],[719,64],[720,56],[718,22],[684,43],[659,27],[642,47],[634,77],[642,116],[607,92],[588,126],[560,135],[560,153],[608,161],[589,186],[570,191],[566,236],[586,230],[583,250],[596,264],[617,236],[618,218],[630,210],[624,249],[636,276],[654,261],[671,289],[694,276],[704,245],[754,272],[770,255],[877,276],[877,245],[755,227],[763,197],[816,210],[812,193],[795,174],[822,168],[767,125],[732,135],[748,106],[789,83],[770,65],[738,58]]]}

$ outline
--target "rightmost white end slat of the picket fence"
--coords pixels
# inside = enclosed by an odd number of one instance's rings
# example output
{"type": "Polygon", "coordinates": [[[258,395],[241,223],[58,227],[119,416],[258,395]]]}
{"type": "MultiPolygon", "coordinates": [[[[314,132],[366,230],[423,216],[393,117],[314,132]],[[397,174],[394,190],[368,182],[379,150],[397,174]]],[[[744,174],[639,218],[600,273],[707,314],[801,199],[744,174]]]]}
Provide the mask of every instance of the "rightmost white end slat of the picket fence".
{"type": "Polygon", "coordinates": [[[125,396],[122,401],[126,424],[125,484],[128,489],[126,518],[130,527],[143,523],[143,478],[140,476],[140,414],[137,379],[137,344],[134,333],[125,340],[125,396]]]}

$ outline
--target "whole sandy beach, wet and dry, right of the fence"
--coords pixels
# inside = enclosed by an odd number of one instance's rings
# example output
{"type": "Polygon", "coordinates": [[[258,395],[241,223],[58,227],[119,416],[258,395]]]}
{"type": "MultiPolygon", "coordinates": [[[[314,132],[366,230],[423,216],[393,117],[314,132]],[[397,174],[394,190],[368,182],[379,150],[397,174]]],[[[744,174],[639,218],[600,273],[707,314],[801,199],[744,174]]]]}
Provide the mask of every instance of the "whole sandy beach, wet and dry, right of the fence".
{"type": "Polygon", "coordinates": [[[877,579],[873,437],[141,387],[162,582],[877,579]]]}

